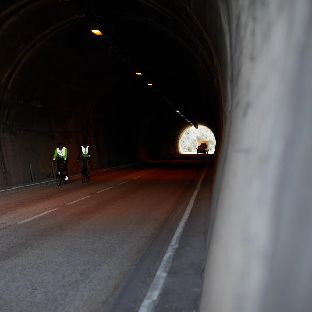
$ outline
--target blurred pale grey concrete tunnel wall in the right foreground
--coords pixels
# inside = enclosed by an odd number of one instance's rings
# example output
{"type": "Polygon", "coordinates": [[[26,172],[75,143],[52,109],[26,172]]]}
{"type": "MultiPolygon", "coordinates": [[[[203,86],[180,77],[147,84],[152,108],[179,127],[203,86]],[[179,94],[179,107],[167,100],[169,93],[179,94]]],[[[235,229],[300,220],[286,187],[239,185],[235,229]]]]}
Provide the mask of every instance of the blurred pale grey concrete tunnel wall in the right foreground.
{"type": "Polygon", "coordinates": [[[311,311],[312,3],[218,3],[228,70],[200,311],[311,311]]]}

